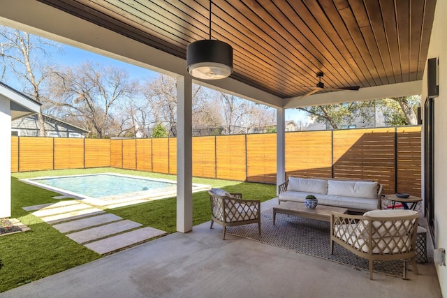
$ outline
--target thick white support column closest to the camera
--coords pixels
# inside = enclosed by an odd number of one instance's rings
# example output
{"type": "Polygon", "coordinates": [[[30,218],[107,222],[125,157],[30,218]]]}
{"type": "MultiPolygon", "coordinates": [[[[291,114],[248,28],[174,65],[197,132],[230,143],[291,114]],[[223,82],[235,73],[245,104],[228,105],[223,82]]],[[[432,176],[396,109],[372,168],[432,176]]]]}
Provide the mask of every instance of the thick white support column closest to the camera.
{"type": "Polygon", "coordinates": [[[177,232],[193,230],[192,80],[177,78],[177,232]]]}

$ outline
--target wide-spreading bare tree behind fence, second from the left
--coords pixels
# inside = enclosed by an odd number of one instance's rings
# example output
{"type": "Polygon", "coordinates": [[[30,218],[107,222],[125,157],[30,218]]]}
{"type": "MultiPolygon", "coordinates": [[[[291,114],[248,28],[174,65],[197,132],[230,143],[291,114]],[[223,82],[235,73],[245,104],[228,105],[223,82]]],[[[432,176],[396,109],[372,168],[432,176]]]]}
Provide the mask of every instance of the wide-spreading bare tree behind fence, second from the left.
{"type": "Polygon", "coordinates": [[[61,70],[52,78],[51,87],[52,104],[66,111],[71,121],[81,121],[81,126],[92,131],[94,137],[103,138],[122,132],[117,103],[131,100],[137,83],[129,80],[123,68],[85,62],[61,70]]]}

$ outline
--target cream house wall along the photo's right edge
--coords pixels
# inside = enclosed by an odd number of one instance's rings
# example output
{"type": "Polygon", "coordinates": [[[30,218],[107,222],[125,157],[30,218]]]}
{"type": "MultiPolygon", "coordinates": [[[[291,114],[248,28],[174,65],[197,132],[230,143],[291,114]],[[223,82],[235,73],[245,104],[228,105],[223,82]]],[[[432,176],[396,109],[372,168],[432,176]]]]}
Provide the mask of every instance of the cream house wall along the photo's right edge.
{"type": "MultiPolygon", "coordinates": [[[[435,248],[447,248],[447,1],[437,1],[427,58],[439,59],[439,96],[434,98],[434,240],[435,248]]],[[[427,69],[427,68],[426,68],[427,69]]],[[[427,97],[427,73],[422,98],[427,97]]],[[[428,239],[427,239],[428,240],[428,239]]],[[[428,240],[430,241],[430,240],[428,240]]],[[[447,294],[447,268],[437,266],[439,283],[447,294]]]]}

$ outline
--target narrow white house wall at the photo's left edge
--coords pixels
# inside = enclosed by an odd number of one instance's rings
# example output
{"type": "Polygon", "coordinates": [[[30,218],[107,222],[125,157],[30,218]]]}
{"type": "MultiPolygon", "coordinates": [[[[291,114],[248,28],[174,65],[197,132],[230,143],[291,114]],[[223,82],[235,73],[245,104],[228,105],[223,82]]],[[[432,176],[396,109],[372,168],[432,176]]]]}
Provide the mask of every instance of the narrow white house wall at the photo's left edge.
{"type": "Polygon", "coordinates": [[[11,110],[10,100],[0,95],[0,218],[11,216],[11,110]]]}

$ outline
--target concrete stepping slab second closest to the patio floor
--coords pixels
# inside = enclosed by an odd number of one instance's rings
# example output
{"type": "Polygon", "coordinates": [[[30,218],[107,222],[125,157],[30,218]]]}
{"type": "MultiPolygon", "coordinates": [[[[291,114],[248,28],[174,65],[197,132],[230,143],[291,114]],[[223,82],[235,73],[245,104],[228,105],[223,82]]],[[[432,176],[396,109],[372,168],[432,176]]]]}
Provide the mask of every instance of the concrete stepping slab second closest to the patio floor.
{"type": "Polygon", "coordinates": [[[80,232],[74,232],[72,234],[66,234],[66,237],[78,242],[79,244],[87,241],[100,239],[112,234],[124,232],[141,226],[141,223],[135,223],[135,221],[117,221],[116,223],[109,223],[108,225],[101,225],[96,228],[82,230],[80,232]]]}

